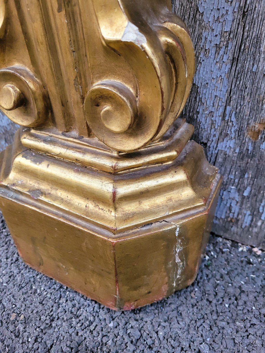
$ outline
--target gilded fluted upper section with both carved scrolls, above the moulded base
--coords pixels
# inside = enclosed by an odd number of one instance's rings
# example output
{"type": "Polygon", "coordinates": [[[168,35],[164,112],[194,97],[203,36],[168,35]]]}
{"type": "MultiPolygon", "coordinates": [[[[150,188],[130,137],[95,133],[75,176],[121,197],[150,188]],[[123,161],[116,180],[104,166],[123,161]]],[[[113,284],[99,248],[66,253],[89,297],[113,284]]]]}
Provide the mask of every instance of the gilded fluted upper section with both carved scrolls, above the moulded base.
{"type": "Polygon", "coordinates": [[[192,42],[168,0],[1,1],[0,37],[11,120],[118,151],[163,136],[192,84],[192,42]]]}

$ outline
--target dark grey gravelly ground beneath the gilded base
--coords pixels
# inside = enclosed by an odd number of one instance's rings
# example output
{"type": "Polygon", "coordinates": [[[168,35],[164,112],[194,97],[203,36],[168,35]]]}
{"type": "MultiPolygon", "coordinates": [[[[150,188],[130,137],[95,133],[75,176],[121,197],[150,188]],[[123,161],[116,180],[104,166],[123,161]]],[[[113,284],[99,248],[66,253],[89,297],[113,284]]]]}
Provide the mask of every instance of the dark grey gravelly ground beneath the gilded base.
{"type": "Polygon", "coordinates": [[[0,220],[1,353],[265,352],[264,252],[211,236],[190,287],[115,312],[25,265],[0,220]]]}

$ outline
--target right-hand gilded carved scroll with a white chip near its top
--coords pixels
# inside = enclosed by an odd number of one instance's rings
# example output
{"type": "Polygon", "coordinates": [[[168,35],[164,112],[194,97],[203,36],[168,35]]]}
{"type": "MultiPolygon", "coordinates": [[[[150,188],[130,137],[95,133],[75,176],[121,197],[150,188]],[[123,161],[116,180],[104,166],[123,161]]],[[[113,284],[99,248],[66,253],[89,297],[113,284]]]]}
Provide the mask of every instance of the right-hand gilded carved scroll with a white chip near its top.
{"type": "Polygon", "coordinates": [[[119,67],[118,79],[110,79],[110,70],[93,84],[87,122],[111,148],[135,150],[161,137],[183,109],[194,74],[192,42],[170,2],[93,4],[102,40],[129,67],[119,67]]]}

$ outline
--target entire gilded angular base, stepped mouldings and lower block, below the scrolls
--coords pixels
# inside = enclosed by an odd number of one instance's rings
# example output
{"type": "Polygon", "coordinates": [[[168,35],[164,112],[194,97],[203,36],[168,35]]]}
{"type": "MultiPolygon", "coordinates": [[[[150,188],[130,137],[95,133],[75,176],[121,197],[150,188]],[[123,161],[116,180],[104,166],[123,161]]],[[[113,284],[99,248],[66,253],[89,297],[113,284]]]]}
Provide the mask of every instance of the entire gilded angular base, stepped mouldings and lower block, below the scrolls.
{"type": "Polygon", "coordinates": [[[221,180],[201,146],[182,143],[169,158],[154,145],[134,168],[131,155],[115,155],[120,171],[111,173],[33,152],[20,132],[0,156],[0,207],[27,264],[117,310],[194,281],[221,180]]]}

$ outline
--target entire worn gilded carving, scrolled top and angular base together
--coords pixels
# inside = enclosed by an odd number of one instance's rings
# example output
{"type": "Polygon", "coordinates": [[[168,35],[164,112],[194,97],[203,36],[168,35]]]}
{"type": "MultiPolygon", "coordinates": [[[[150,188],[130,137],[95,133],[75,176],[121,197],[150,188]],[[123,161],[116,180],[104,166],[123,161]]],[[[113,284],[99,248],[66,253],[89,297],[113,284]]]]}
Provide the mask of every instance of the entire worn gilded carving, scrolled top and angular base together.
{"type": "Polygon", "coordinates": [[[220,176],[178,118],[194,74],[168,0],[0,1],[0,206],[31,267],[113,309],[195,279],[220,176]]]}

